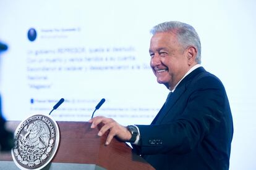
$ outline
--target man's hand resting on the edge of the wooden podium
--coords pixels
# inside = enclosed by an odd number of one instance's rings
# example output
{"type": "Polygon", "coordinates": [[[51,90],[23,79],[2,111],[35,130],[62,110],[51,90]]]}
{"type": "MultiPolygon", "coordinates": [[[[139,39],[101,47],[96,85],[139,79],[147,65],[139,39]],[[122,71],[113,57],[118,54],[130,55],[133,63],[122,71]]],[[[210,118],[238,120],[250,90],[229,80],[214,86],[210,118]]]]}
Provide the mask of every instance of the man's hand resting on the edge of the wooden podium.
{"type": "Polygon", "coordinates": [[[127,141],[132,137],[127,128],[114,121],[114,119],[96,116],[90,119],[89,122],[92,123],[91,128],[97,127],[100,123],[104,124],[98,132],[98,136],[102,136],[106,131],[109,131],[105,145],[109,145],[114,136],[122,141],[127,141]]]}

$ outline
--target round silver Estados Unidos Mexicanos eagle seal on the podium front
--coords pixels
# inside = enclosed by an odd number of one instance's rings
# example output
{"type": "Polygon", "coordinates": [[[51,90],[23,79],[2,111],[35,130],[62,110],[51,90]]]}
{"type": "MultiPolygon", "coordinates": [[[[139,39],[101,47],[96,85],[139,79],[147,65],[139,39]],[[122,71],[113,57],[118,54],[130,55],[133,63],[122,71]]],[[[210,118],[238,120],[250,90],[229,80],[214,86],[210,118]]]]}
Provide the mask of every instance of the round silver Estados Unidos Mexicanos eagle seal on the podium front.
{"type": "Polygon", "coordinates": [[[20,169],[41,169],[58,149],[59,127],[49,115],[33,115],[19,124],[14,140],[14,163],[20,169]]]}

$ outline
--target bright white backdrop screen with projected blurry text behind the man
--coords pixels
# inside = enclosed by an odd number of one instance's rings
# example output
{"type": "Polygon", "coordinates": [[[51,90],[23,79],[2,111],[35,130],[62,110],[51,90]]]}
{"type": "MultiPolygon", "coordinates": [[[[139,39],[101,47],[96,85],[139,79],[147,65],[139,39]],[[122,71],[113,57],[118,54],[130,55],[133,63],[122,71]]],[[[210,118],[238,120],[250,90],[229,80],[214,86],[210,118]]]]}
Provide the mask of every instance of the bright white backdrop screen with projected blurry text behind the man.
{"type": "Polygon", "coordinates": [[[202,65],[223,81],[234,119],[230,169],[255,169],[254,1],[0,0],[1,95],[4,115],[22,120],[53,112],[57,120],[111,116],[150,123],[168,91],[149,68],[149,30],[179,20],[197,30],[202,65]],[[35,28],[30,42],[27,33],[35,28]]]}

